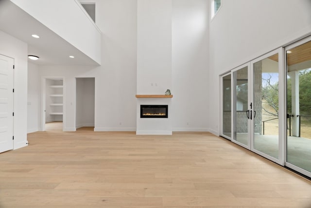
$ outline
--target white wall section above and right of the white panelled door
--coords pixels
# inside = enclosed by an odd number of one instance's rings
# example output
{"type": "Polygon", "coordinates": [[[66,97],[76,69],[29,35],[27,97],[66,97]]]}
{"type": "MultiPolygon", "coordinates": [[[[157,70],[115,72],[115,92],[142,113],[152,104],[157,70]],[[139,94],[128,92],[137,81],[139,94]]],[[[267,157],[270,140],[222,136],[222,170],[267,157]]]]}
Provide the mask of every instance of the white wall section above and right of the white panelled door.
{"type": "Polygon", "coordinates": [[[0,54],[14,58],[14,149],[27,146],[27,44],[0,31],[0,54]]]}

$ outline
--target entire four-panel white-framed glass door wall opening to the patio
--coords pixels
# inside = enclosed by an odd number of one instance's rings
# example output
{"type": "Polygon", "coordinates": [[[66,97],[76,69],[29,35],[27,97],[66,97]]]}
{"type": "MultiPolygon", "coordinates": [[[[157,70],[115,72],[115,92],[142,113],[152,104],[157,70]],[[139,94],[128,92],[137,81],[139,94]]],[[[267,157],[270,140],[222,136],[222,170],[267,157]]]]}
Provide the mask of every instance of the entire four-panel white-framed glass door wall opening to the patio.
{"type": "Polygon", "coordinates": [[[221,135],[311,177],[311,37],[243,64],[221,80],[221,135]]]}

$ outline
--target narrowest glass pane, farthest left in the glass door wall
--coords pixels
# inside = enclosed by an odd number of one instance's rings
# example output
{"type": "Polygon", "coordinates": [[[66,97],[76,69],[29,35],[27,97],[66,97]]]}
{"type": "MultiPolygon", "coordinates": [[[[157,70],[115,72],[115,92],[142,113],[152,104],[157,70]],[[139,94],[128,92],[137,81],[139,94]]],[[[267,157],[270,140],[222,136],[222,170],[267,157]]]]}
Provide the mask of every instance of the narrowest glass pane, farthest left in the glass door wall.
{"type": "Polygon", "coordinates": [[[223,77],[223,126],[222,134],[231,139],[231,74],[223,77]]]}

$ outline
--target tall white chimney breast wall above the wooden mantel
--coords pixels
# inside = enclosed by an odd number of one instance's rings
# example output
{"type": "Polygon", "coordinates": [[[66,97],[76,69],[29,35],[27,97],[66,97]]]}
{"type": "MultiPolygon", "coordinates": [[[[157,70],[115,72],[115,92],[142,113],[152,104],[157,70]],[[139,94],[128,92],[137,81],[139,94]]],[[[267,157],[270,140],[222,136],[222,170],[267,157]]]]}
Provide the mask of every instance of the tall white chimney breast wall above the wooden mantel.
{"type": "Polygon", "coordinates": [[[172,90],[172,0],[138,0],[137,94],[172,90]]]}

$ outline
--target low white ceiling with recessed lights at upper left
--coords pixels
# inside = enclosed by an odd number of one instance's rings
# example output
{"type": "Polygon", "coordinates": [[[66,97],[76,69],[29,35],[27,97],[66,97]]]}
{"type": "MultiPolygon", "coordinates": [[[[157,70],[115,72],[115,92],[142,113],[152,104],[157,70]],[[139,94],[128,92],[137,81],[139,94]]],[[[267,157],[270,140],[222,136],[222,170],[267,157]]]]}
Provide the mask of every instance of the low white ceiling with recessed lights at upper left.
{"type": "Polygon", "coordinates": [[[0,0],[0,30],[28,43],[28,55],[40,57],[36,61],[28,59],[34,64],[98,65],[10,0],[0,0]],[[33,34],[40,38],[33,38],[33,34]]]}

